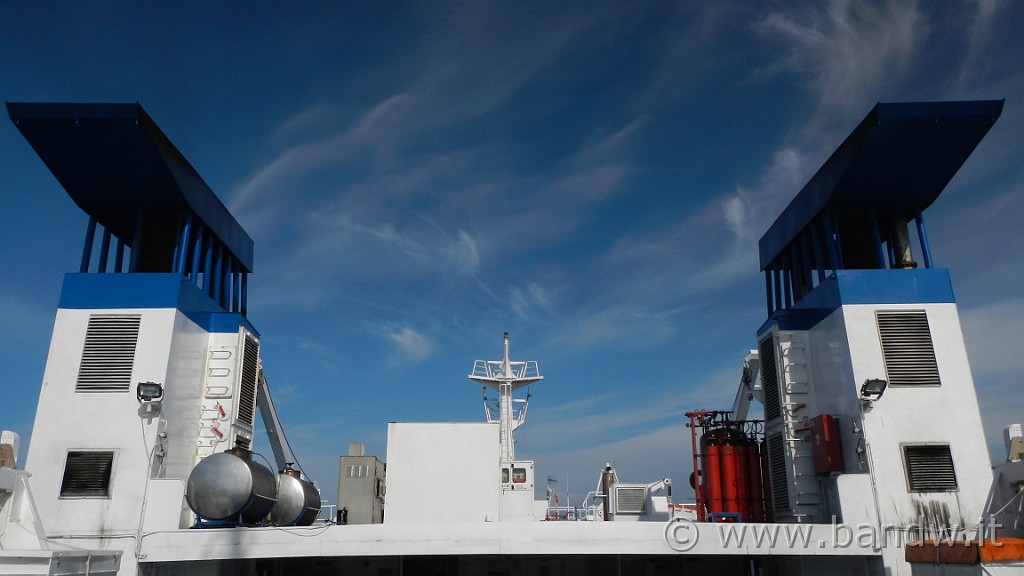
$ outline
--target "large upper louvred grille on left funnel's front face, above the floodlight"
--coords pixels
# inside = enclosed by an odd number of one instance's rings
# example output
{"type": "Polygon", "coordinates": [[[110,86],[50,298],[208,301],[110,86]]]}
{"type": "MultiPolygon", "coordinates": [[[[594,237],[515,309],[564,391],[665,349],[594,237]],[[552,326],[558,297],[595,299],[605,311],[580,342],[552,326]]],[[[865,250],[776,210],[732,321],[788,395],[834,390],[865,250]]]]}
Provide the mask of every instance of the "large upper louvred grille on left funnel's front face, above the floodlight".
{"type": "Polygon", "coordinates": [[[75,392],[128,392],[138,343],[138,315],[90,316],[75,392]]]}

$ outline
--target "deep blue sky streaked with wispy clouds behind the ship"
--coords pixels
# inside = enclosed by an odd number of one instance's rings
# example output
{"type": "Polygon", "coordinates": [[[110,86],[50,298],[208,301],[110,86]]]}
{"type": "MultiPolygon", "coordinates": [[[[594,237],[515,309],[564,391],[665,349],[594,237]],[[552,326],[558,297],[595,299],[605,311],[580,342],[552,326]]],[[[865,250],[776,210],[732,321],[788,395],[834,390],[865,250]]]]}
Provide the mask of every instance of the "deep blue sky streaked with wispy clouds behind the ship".
{"type": "MultiPolygon", "coordinates": [[[[731,405],[765,320],[757,241],[877,101],[1007,100],[926,216],[993,455],[1024,419],[1024,3],[4,11],[4,99],[139,101],[252,236],[250,320],[328,495],[388,421],[481,419],[466,374],[504,331],[545,375],[517,437],[540,480],[684,487],[683,412],[731,405]]],[[[6,121],[0,173],[0,427],[26,442],[86,218],[6,121]]]]}

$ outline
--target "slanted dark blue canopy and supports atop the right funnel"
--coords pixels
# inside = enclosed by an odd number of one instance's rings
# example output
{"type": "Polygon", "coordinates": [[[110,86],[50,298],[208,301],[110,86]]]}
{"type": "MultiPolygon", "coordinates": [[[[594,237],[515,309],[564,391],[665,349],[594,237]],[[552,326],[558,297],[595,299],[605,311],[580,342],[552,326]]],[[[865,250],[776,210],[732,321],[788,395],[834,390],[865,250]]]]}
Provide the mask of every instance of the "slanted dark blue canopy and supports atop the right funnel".
{"type": "Polygon", "coordinates": [[[844,251],[857,261],[851,265],[895,266],[890,222],[897,218],[916,219],[925,268],[932,268],[921,213],[1001,112],[1002,100],[877,105],[761,238],[761,270],[773,278],[765,281],[769,315],[799,307],[815,272],[820,286],[826,271],[844,271],[844,251]]]}

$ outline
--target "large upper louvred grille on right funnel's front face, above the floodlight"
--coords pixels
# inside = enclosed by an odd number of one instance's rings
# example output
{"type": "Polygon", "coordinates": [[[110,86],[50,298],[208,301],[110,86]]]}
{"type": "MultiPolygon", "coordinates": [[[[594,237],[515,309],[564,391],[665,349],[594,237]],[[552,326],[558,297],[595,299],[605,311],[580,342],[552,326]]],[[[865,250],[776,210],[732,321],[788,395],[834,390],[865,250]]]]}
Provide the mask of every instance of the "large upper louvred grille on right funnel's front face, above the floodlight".
{"type": "Polygon", "coordinates": [[[935,363],[925,311],[878,312],[876,319],[889,383],[895,386],[939,385],[939,367],[935,363]]]}

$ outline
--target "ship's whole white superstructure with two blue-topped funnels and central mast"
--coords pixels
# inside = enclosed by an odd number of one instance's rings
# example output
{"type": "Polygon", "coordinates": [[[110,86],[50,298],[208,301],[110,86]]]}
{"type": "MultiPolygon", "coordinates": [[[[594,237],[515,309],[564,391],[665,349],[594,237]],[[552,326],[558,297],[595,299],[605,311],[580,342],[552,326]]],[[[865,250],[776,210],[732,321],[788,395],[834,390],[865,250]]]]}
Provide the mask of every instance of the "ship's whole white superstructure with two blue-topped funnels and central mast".
{"type": "Polygon", "coordinates": [[[1024,442],[1008,431],[993,480],[922,215],[1001,102],[879,105],[765,234],[733,411],[689,413],[696,501],[610,465],[579,508],[538,499],[515,393],[543,377],[506,333],[469,374],[484,421],[391,422],[386,471],[342,461],[366,519],[347,526],[301,525],[321,504],[291,469],[233,217],[137,105],[8,110],[89,227],[24,468],[0,443],[0,574],[1024,574],[1024,442]],[[251,459],[257,425],[287,474],[251,459]]]}

